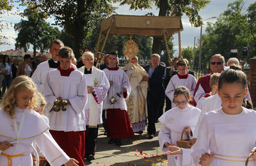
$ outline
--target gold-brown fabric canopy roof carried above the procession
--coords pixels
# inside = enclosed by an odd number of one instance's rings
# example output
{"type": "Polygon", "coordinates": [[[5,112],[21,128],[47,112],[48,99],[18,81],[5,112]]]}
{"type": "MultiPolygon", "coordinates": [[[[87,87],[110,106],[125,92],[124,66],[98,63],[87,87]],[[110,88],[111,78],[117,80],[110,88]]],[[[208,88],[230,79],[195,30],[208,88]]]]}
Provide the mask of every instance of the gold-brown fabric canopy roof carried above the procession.
{"type": "Polygon", "coordinates": [[[168,36],[183,30],[180,17],[144,16],[144,15],[112,15],[101,22],[102,33],[137,34],[162,36],[166,30],[168,36]]]}

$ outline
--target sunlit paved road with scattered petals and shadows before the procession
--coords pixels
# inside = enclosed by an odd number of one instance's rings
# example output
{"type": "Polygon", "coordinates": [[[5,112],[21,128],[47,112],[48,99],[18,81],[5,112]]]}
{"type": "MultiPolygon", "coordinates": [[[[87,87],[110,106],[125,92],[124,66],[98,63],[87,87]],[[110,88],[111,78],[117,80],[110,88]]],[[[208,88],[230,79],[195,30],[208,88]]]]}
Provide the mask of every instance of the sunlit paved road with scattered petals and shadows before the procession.
{"type": "MultiPolygon", "coordinates": [[[[157,133],[161,128],[160,123],[156,123],[157,133]]],[[[167,166],[166,156],[159,155],[163,153],[159,148],[157,137],[147,139],[147,132],[142,135],[135,134],[132,139],[122,140],[123,146],[118,147],[115,144],[108,144],[109,138],[103,135],[104,129],[99,128],[99,137],[95,160],[88,162],[84,160],[85,165],[100,166],[167,166]]]]}

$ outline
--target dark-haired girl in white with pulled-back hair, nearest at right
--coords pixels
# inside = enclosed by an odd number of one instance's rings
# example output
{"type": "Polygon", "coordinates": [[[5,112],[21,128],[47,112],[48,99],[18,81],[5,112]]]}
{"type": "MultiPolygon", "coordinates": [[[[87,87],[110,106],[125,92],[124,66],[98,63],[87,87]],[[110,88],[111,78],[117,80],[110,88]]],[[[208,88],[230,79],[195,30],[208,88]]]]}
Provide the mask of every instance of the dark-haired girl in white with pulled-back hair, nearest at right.
{"type": "MultiPolygon", "coordinates": [[[[207,112],[198,130],[193,158],[198,165],[244,165],[247,156],[255,153],[256,112],[242,107],[248,93],[246,75],[227,70],[220,75],[218,94],[222,107],[207,112]]],[[[248,165],[255,165],[253,154],[248,165]],[[253,161],[254,160],[254,161],[253,161]]]]}

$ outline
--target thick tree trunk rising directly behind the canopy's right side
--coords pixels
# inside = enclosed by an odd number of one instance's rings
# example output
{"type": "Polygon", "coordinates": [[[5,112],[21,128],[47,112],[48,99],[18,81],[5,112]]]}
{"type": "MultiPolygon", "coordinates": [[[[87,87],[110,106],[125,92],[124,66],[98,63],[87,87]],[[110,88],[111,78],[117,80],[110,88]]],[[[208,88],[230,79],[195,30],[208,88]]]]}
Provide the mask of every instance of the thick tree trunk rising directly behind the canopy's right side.
{"type": "MultiPolygon", "coordinates": [[[[166,11],[168,9],[168,0],[159,1],[159,16],[166,16],[166,11]]],[[[161,40],[162,37],[154,37],[152,45],[152,54],[161,54],[161,40]]]]}

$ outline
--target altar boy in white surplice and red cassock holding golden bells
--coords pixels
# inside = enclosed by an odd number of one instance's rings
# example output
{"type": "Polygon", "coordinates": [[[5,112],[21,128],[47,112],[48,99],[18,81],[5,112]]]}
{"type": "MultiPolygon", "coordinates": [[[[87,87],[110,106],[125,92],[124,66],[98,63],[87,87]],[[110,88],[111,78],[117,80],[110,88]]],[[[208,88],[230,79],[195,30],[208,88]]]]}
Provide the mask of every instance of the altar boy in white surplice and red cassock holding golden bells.
{"type": "MultiPolygon", "coordinates": [[[[87,99],[86,78],[82,72],[72,66],[72,49],[64,47],[59,51],[60,66],[47,73],[44,95],[52,137],[69,155],[84,165],[84,131],[86,130],[84,107],[87,99]],[[65,100],[59,112],[54,111],[54,100],[65,100]]],[[[63,103],[63,102],[61,102],[63,103]]]]}

